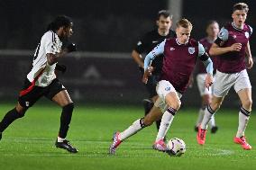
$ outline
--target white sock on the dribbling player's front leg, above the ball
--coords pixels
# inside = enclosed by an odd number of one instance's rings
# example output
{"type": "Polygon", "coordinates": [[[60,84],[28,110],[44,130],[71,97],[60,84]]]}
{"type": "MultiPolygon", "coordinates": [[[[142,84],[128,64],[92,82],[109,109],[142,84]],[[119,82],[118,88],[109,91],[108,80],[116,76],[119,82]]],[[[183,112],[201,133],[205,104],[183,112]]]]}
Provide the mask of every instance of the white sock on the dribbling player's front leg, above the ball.
{"type": "Polygon", "coordinates": [[[160,139],[164,139],[167,131],[169,130],[169,126],[174,119],[174,115],[176,112],[177,112],[176,109],[169,107],[169,109],[163,113],[161,122],[160,122],[160,130],[158,132],[156,141],[159,141],[160,139]]]}

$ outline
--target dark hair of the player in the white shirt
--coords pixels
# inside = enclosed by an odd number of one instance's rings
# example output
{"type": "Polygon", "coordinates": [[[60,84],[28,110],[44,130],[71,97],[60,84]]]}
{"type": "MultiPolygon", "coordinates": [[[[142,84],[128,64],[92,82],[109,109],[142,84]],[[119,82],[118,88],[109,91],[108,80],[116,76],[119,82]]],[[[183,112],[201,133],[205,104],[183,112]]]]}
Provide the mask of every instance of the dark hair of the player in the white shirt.
{"type": "Polygon", "coordinates": [[[47,31],[57,31],[60,27],[69,27],[73,24],[72,20],[65,15],[57,16],[47,27],[47,31]]]}

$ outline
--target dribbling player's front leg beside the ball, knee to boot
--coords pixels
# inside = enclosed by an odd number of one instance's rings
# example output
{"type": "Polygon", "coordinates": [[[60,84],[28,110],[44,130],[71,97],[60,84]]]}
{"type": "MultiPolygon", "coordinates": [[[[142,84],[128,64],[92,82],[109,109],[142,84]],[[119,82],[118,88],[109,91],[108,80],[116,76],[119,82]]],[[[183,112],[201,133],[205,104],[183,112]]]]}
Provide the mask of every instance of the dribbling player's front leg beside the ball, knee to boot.
{"type": "Polygon", "coordinates": [[[160,151],[166,151],[166,144],[163,139],[166,136],[166,133],[169,130],[169,126],[174,119],[174,115],[178,111],[181,104],[176,92],[170,92],[167,94],[165,100],[169,108],[162,115],[160,130],[158,132],[155,143],[153,144],[153,148],[160,151]]]}

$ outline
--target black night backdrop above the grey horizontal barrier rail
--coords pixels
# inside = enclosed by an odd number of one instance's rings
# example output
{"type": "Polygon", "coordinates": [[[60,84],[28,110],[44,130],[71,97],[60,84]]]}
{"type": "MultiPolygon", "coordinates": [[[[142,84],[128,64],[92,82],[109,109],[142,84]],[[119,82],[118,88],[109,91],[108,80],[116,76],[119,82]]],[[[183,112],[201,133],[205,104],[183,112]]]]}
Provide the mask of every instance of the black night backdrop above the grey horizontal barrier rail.
{"type": "MultiPolygon", "coordinates": [[[[196,39],[205,36],[208,20],[221,24],[231,21],[233,0],[184,0],[183,17],[194,24],[196,39]]],[[[249,4],[248,23],[256,23],[256,1],[249,4]]],[[[72,1],[0,1],[0,49],[35,49],[47,24],[58,14],[73,18],[73,40],[80,50],[130,52],[139,37],[154,27],[156,14],[168,8],[168,1],[160,0],[72,0],[72,1]]],[[[176,21],[174,21],[176,22],[176,21]]],[[[253,33],[252,39],[256,38],[253,33]]],[[[251,40],[255,51],[255,40],[251,40]]]]}

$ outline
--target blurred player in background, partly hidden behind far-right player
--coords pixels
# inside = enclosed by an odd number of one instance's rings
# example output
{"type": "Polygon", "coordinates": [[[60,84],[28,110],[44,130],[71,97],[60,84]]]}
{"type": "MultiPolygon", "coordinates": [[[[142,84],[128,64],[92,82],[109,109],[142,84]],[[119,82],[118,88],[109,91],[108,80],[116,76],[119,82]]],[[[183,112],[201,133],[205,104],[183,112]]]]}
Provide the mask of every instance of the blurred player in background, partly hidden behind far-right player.
{"type": "MultiPolygon", "coordinates": [[[[207,36],[199,42],[204,46],[206,52],[209,53],[209,49],[211,48],[214,41],[217,39],[217,35],[219,32],[219,24],[216,21],[209,21],[206,25],[206,33],[207,36]]],[[[214,63],[214,74],[216,72],[217,66],[217,58],[211,58],[214,63]]],[[[206,79],[206,68],[202,62],[197,63],[197,87],[199,93],[202,97],[202,105],[198,112],[197,123],[195,126],[195,130],[198,131],[198,126],[201,124],[204,118],[206,106],[211,103],[212,100],[212,87],[209,90],[205,86],[205,79],[206,79]]],[[[213,116],[209,122],[209,126],[211,128],[211,132],[215,133],[218,130],[218,127],[215,125],[215,117],[213,116]]]]}

